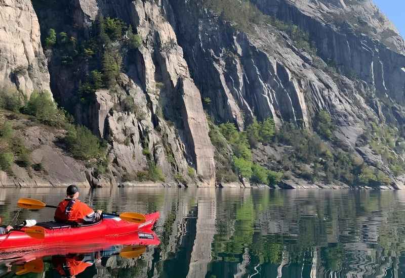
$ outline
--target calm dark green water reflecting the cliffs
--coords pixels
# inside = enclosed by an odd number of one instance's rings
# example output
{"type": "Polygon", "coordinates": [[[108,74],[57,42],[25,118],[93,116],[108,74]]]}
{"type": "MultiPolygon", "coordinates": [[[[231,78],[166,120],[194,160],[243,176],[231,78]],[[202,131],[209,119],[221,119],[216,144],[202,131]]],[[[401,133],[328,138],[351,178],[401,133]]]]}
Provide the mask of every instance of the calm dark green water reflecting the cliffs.
{"type": "MultiPolygon", "coordinates": [[[[3,189],[0,215],[13,218],[21,197],[57,204],[63,196],[3,189]]],[[[138,259],[107,254],[77,277],[405,277],[401,191],[103,189],[82,200],[109,212],[159,210],[161,244],[138,259]]],[[[21,211],[19,219],[52,216],[21,211]]],[[[44,262],[45,273],[28,275],[58,277],[53,258],[44,262]]]]}

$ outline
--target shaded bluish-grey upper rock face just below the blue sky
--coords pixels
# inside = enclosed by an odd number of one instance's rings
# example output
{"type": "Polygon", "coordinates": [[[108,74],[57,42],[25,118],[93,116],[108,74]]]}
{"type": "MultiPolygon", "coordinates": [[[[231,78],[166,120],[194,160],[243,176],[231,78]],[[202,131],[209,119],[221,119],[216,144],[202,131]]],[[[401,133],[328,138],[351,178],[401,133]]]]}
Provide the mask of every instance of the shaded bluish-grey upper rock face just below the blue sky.
{"type": "Polygon", "coordinates": [[[263,12],[309,32],[323,60],[334,61],[343,72],[355,74],[381,94],[405,103],[404,42],[371,1],[346,8],[333,6],[336,1],[253,2],[263,12]]]}

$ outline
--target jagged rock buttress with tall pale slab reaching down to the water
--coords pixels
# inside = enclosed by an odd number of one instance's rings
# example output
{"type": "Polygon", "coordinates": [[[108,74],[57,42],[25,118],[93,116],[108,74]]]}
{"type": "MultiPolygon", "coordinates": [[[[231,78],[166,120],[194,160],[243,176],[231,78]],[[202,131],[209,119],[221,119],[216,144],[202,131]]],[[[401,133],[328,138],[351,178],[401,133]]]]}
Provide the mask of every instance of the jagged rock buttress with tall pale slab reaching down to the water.
{"type": "MultiPolygon", "coordinates": [[[[131,23],[144,39],[139,50],[125,59],[127,70],[114,93],[99,90],[93,104],[77,105],[75,109],[80,123],[109,142],[114,174],[135,175],[147,170],[152,161],[169,179],[176,174],[191,181],[187,172],[192,167],[199,177],[198,186],[214,186],[214,152],[200,93],[190,77],[176,33],[159,7],[149,1],[87,0],[72,1],[72,7],[74,23],[84,33],[102,14],[131,23]],[[135,101],[136,111],[117,109],[126,98],[135,101]],[[149,158],[145,153],[150,153],[149,158]]],[[[68,103],[74,82],[57,75],[58,65],[50,58],[58,99],[68,103]]]]}

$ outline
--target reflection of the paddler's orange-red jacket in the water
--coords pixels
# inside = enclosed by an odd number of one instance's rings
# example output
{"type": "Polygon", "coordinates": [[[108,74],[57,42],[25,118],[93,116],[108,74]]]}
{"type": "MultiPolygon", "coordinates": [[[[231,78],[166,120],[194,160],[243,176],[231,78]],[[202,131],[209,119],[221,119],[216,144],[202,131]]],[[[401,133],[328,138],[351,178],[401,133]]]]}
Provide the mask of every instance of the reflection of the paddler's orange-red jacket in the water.
{"type": "Polygon", "coordinates": [[[52,265],[62,277],[74,278],[77,274],[82,273],[89,266],[92,266],[95,260],[94,255],[67,255],[53,256],[52,265]]]}

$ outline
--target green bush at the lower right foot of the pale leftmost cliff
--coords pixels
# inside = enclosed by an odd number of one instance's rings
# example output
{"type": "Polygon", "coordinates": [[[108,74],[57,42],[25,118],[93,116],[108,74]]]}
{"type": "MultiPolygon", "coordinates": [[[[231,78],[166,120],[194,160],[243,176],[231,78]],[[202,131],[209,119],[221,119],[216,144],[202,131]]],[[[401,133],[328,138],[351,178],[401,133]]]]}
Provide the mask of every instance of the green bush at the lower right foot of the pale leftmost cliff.
{"type": "Polygon", "coordinates": [[[67,122],[65,112],[57,108],[47,91],[34,91],[23,112],[34,116],[39,122],[63,128],[67,122]]]}

